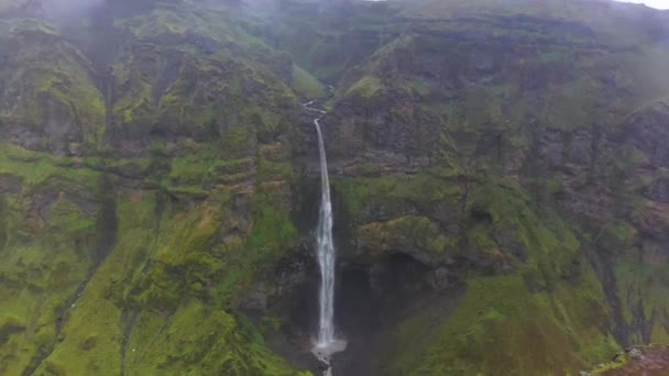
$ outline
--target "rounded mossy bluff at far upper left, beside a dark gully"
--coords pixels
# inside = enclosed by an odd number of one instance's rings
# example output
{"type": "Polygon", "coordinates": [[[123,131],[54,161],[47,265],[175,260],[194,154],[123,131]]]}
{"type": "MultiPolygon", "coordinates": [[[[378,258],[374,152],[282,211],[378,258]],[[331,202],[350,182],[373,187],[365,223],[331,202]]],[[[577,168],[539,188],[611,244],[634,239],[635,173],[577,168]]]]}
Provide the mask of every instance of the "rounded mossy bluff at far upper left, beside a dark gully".
{"type": "Polygon", "coordinates": [[[3,117],[37,132],[44,146],[58,153],[70,146],[59,143],[98,146],[105,101],[92,64],[55,29],[36,20],[12,22],[2,43],[14,51],[0,73],[3,101],[11,103],[3,108],[3,117]],[[69,136],[58,140],[54,126],[69,136]]]}

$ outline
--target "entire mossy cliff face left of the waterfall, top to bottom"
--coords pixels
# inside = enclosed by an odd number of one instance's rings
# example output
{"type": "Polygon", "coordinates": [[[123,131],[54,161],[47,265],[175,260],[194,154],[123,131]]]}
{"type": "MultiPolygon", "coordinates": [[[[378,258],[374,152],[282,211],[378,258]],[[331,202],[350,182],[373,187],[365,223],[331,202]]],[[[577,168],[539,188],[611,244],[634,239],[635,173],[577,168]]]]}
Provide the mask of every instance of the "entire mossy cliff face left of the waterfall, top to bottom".
{"type": "Polygon", "coordinates": [[[297,242],[290,59],[224,8],[31,4],[0,33],[0,373],[295,374],[234,316],[297,242]]]}

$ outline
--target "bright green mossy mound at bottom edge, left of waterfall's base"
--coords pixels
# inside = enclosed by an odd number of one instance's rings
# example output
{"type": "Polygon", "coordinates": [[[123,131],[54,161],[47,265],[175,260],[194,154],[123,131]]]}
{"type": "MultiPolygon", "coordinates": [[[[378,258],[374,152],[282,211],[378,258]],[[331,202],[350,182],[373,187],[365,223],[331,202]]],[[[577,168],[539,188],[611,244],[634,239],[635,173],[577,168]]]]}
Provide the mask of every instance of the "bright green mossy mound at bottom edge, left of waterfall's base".
{"type": "Polygon", "coordinates": [[[186,302],[169,321],[151,314],[139,320],[150,330],[130,339],[127,369],[132,374],[308,375],[270,353],[249,321],[240,328],[230,314],[199,301],[186,302]]]}

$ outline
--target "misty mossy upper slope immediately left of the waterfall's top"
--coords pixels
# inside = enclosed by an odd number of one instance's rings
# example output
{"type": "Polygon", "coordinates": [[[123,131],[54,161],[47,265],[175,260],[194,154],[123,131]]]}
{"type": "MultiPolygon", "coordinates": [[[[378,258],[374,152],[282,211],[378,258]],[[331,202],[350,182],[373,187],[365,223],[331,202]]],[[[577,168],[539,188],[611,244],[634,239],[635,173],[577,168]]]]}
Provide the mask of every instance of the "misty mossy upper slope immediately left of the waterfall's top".
{"type": "MultiPolygon", "coordinates": [[[[144,42],[114,63],[119,132],[204,141],[246,128],[266,141],[287,129],[299,109],[287,87],[289,59],[283,77],[274,69],[283,55],[216,14],[227,18],[216,9],[158,4],[117,20],[144,42]]],[[[303,89],[318,90],[308,74],[296,73],[303,89]]]]}

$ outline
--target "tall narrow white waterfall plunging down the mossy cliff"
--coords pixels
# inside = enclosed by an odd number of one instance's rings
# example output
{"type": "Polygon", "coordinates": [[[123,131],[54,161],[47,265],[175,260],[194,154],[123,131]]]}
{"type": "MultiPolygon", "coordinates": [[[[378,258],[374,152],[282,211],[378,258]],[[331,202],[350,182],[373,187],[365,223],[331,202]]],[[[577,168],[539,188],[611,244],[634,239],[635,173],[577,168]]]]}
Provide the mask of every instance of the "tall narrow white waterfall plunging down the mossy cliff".
{"type": "Polygon", "coordinates": [[[314,120],[320,151],[320,211],[318,214],[317,257],[320,267],[320,291],[318,295],[319,320],[317,347],[329,347],[334,342],[334,243],[332,242],[332,202],[326,147],[320,130],[320,118],[314,120]]]}

